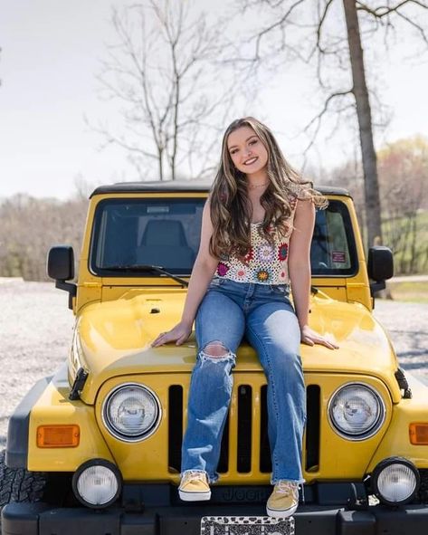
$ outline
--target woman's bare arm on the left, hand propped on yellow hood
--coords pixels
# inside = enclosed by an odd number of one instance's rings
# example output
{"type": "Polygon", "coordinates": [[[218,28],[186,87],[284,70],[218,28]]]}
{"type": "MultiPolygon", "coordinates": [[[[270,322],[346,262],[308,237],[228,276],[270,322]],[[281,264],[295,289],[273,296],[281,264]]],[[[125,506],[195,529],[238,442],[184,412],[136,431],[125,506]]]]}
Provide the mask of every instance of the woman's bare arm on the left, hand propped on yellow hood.
{"type": "Polygon", "coordinates": [[[192,325],[195,320],[196,312],[204,299],[208,284],[214,276],[218,259],[215,258],[209,250],[210,238],[213,234],[213,224],[211,222],[211,210],[209,201],[204,205],[202,215],[201,243],[196,256],[195,264],[190,277],[187,296],[185,298],[185,308],[179,323],[176,326],[161,333],[155,341],[153,347],[161,346],[167,342],[176,341],[176,345],[183,344],[192,332],[192,325]]]}

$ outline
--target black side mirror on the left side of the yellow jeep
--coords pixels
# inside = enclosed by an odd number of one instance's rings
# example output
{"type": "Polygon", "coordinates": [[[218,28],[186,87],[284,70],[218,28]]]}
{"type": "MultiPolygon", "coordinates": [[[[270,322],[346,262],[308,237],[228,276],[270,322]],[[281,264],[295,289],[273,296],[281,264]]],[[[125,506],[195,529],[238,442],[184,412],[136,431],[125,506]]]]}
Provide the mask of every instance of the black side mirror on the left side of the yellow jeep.
{"type": "Polygon", "coordinates": [[[55,287],[69,292],[69,309],[72,309],[72,298],[77,294],[77,285],[65,282],[74,278],[74,252],[71,245],[51,247],[46,264],[46,271],[55,280],[55,287]]]}

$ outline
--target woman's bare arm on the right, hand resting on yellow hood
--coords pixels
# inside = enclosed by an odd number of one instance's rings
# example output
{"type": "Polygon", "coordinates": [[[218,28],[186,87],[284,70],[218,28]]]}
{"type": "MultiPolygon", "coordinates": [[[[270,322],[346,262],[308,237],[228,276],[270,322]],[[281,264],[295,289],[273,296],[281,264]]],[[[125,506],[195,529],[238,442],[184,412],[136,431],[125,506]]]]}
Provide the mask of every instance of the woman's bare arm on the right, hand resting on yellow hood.
{"type": "Polygon", "coordinates": [[[320,344],[329,349],[338,346],[311,330],[309,323],[310,242],[315,225],[315,207],[309,200],[298,201],[294,229],[290,237],[289,274],[294,308],[299,320],[301,341],[309,346],[320,344]]]}

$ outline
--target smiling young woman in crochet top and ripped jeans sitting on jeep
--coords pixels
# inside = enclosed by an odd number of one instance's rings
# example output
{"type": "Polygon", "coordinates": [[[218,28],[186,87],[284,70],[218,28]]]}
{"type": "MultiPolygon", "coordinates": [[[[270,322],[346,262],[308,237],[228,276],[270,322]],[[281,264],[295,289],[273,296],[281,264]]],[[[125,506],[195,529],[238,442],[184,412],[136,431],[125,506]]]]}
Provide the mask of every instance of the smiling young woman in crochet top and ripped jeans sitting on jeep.
{"type": "Polygon", "coordinates": [[[209,483],[218,479],[231,372],[245,335],[268,382],[274,489],[267,512],[287,517],[297,509],[306,419],[300,341],[338,347],[308,325],[310,240],[315,206],[324,205],[260,121],[238,119],[226,129],[182,319],[152,344],[182,344],[195,320],[199,353],[183,441],[179,495],[184,501],[209,500],[209,483]]]}

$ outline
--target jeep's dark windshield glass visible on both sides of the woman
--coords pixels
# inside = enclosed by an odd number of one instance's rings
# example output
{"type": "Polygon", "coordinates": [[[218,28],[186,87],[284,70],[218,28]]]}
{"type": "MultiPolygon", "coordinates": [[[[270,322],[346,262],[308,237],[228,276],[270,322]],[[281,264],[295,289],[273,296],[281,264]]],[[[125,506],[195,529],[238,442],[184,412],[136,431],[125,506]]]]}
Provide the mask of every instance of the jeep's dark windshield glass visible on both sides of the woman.
{"type": "MultiPolygon", "coordinates": [[[[90,271],[111,277],[164,276],[125,269],[144,264],[189,275],[199,247],[204,201],[197,197],[101,201],[91,238],[90,271]]],[[[327,210],[317,212],[310,261],[314,276],[357,272],[352,227],[343,203],[330,201],[327,210]]]]}

